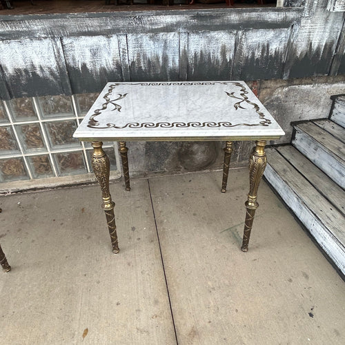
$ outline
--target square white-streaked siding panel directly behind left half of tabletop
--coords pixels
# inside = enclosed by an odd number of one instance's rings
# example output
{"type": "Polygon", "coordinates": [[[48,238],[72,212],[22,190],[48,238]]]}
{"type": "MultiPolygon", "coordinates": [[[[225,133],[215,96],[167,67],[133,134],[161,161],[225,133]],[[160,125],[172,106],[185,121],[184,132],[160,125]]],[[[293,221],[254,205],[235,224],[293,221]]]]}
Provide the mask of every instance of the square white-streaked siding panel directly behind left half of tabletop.
{"type": "Polygon", "coordinates": [[[179,80],[179,34],[129,34],[128,59],[132,81],[179,80]]]}

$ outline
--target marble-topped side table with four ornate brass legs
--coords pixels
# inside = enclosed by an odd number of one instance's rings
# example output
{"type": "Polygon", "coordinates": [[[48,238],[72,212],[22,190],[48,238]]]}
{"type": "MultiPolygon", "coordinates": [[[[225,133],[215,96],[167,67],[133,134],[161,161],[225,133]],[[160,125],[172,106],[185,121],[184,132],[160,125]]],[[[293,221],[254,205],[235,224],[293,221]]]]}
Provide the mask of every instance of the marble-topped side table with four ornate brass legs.
{"type": "Polygon", "coordinates": [[[226,141],[221,192],[226,192],[233,141],[255,140],[242,250],[248,250],[257,190],[266,168],[265,145],[284,131],[244,81],[107,83],[73,137],[92,141],[92,169],[101,186],[113,253],[119,253],[110,165],[102,141],[118,141],[130,190],[126,141],[226,141]]]}

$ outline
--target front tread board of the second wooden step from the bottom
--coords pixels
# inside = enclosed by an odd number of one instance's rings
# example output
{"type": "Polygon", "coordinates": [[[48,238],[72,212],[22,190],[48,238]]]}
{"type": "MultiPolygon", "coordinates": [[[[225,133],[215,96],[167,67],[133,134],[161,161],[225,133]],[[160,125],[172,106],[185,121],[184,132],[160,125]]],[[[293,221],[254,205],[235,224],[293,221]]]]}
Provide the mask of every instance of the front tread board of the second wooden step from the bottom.
{"type": "Polygon", "coordinates": [[[336,137],[328,133],[326,130],[320,128],[313,122],[308,121],[301,124],[295,124],[295,128],[299,128],[309,136],[313,138],[313,140],[317,141],[319,144],[324,146],[325,150],[332,152],[337,158],[341,161],[345,162],[345,146],[336,137]]]}

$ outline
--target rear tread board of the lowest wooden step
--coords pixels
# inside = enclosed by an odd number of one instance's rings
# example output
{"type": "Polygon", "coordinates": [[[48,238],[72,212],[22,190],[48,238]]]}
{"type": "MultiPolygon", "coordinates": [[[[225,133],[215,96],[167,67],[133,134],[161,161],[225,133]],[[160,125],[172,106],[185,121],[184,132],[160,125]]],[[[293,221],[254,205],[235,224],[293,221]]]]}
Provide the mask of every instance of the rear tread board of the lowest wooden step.
{"type": "Polygon", "coordinates": [[[330,201],[342,215],[345,215],[345,193],[341,187],[293,146],[277,146],[276,150],[286,161],[298,170],[314,188],[319,190],[319,192],[330,201]]]}

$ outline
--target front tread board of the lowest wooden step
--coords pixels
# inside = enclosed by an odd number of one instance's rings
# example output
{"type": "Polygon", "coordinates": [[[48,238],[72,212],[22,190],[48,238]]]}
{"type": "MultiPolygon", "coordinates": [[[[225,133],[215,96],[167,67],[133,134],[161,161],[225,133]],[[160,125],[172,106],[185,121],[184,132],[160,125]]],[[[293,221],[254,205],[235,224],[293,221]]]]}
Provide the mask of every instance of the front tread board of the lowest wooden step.
{"type": "MultiPolygon", "coordinates": [[[[290,186],[313,215],[328,229],[335,242],[345,250],[345,217],[294,168],[275,148],[267,148],[268,164],[290,186]]],[[[297,215],[298,216],[298,215],[297,215]]]]}

